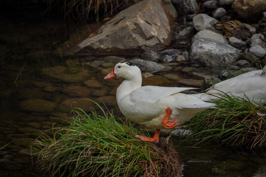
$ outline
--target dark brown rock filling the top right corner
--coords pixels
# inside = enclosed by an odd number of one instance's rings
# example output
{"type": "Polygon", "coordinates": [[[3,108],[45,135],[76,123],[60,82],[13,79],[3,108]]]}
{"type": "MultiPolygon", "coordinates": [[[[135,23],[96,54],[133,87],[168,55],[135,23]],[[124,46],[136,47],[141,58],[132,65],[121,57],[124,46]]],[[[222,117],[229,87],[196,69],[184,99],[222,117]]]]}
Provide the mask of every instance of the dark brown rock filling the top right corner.
{"type": "Polygon", "coordinates": [[[266,11],[266,0],[235,0],[232,8],[248,22],[258,22],[262,12],[266,11]]]}

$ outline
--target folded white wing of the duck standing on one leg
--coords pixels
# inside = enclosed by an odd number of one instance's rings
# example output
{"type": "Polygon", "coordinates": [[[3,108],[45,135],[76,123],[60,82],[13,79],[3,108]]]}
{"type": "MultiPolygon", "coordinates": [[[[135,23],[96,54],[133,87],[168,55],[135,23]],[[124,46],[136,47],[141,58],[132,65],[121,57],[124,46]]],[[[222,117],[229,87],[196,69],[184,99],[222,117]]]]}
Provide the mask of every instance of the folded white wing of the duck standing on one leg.
{"type": "Polygon", "coordinates": [[[179,93],[184,90],[197,88],[177,88],[177,87],[159,87],[159,86],[143,86],[133,90],[130,93],[130,100],[137,102],[139,100],[157,101],[169,95],[179,93]]]}

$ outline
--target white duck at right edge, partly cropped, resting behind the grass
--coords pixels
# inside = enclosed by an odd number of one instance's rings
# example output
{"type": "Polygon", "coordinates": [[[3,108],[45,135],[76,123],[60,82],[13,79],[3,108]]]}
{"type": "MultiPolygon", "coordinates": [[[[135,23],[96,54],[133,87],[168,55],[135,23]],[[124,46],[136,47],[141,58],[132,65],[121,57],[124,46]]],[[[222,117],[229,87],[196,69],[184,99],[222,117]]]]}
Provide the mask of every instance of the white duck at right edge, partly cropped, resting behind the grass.
{"type": "Polygon", "coordinates": [[[227,93],[249,99],[254,104],[266,104],[266,66],[263,70],[250,71],[210,87],[206,93],[194,94],[203,101],[210,101],[227,93]],[[221,92],[222,91],[222,92],[221,92]],[[224,92],[224,93],[223,93],[224,92]]]}

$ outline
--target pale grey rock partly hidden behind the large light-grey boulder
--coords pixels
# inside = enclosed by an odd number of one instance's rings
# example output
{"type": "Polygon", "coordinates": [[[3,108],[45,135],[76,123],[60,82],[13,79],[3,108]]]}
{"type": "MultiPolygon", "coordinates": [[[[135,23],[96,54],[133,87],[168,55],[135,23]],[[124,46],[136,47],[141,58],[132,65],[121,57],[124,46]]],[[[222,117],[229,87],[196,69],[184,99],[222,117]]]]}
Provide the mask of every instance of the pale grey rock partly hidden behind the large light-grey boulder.
{"type": "Polygon", "coordinates": [[[208,38],[228,44],[228,41],[222,34],[207,29],[197,32],[197,34],[195,34],[192,38],[192,43],[194,43],[198,38],[208,38]]]}

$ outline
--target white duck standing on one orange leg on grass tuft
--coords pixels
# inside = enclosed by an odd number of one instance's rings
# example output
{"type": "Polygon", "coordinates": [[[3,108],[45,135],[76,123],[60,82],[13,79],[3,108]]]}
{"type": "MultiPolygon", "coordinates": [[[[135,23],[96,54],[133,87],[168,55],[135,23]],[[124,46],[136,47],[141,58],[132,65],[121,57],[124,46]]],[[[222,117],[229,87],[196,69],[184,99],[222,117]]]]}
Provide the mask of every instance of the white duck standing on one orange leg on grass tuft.
{"type": "Polygon", "coordinates": [[[140,69],[131,62],[120,62],[104,77],[125,78],[116,91],[118,106],[125,117],[147,127],[155,128],[153,138],[137,135],[144,141],[159,142],[160,129],[169,129],[181,124],[200,111],[216,106],[180,93],[194,88],[144,86],[140,69]]]}

